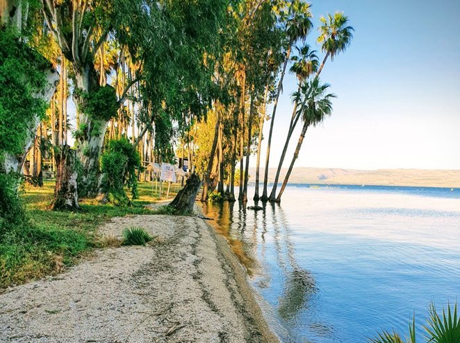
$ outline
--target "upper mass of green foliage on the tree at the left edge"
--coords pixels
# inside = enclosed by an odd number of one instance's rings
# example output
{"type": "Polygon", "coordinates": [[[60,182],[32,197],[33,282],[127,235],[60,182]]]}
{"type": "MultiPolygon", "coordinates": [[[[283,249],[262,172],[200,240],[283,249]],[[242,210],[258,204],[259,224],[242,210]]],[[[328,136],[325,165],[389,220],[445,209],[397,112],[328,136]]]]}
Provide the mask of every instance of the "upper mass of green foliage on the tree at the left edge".
{"type": "Polygon", "coordinates": [[[0,28],[0,155],[22,154],[29,125],[44,116],[47,104],[33,94],[44,88],[49,66],[13,31],[0,28]]]}

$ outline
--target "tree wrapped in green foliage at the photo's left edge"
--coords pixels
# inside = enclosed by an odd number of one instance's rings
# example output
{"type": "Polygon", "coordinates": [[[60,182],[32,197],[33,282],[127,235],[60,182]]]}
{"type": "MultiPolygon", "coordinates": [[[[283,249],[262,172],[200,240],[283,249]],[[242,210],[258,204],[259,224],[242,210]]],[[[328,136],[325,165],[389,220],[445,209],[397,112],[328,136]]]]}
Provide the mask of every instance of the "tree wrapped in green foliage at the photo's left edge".
{"type": "Polygon", "coordinates": [[[58,73],[31,48],[36,8],[24,0],[0,3],[0,235],[24,218],[17,188],[58,73]]]}

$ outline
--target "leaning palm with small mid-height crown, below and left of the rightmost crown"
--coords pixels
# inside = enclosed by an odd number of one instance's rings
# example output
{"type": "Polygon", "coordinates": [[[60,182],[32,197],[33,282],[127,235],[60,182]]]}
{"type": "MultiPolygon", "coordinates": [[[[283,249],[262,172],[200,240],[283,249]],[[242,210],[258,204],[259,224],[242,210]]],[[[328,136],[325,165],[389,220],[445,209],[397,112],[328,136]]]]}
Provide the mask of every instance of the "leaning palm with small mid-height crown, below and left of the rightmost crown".
{"type": "MultiPolygon", "coordinates": [[[[318,56],[316,55],[316,51],[311,50],[311,47],[308,44],[302,46],[302,48],[296,48],[298,55],[293,56],[291,60],[293,60],[294,64],[290,67],[290,71],[295,73],[298,80],[298,89],[297,93],[300,91],[300,87],[308,80],[313,73],[318,71],[318,56]]],[[[277,174],[274,177],[273,188],[272,192],[270,193],[269,200],[274,201],[277,193],[277,185],[279,180],[279,174],[281,173],[281,167],[283,166],[284,157],[286,157],[286,152],[288,150],[288,145],[290,141],[290,137],[293,134],[294,121],[295,121],[295,114],[297,112],[297,103],[294,105],[293,115],[290,118],[290,129],[288,132],[288,137],[286,137],[286,143],[284,143],[283,152],[279,159],[277,174]]],[[[296,122],[297,123],[297,122],[296,122]]]]}

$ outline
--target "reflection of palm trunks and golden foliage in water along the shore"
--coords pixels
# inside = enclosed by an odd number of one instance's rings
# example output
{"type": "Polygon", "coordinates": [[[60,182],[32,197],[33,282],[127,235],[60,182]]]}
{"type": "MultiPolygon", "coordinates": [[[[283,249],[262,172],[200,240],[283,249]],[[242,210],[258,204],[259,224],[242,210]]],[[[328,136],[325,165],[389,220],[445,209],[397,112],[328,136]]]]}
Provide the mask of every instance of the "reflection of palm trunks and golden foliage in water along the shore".
{"type": "Polygon", "coordinates": [[[281,206],[262,202],[255,205],[263,209],[248,210],[241,202],[208,203],[202,207],[206,216],[215,219],[210,224],[227,238],[249,276],[262,289],[272,286],[272,274],[266,272],[271,263],[267,256],[267,239],[272,239],[279,271],[277,281],[282,289],[276,310],[282,321],[297,322],[299,313],[308,310],[308,301],[316,291],[315,279],[309,270],[297,263],[290,228],[281,206]],[[234,206],[238,206],[238,213],[233,213],[234,206]],[[272,232],[268,232],[268,227],[272,232]]]}

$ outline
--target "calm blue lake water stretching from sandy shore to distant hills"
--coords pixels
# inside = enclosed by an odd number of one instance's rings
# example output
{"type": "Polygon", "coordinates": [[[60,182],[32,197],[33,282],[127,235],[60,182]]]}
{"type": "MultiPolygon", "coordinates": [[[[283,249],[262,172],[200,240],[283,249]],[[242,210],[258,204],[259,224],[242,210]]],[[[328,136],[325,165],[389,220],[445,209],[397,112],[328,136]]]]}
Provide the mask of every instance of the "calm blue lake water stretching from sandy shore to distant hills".
{"type": "Polygon", "coordinates": [[[421,339],[431,301],[460,301],[458,188],[288,186],[263,211],[236,202],[204,213],[246,265],[283,342],[406,335],[413,313],[421,339]]]}

